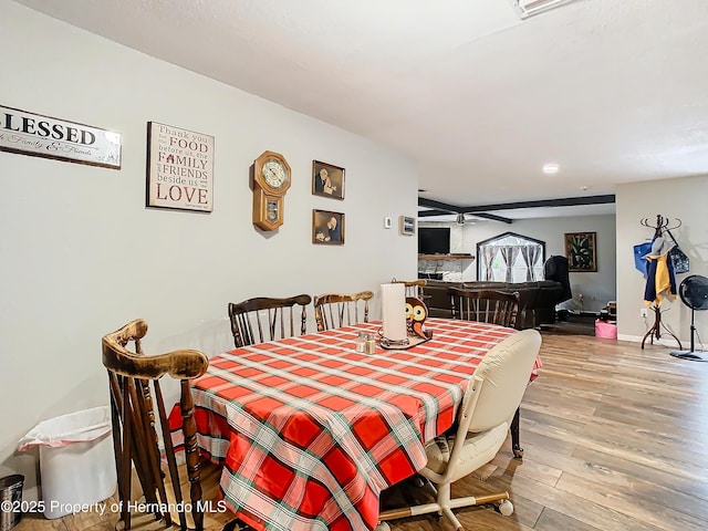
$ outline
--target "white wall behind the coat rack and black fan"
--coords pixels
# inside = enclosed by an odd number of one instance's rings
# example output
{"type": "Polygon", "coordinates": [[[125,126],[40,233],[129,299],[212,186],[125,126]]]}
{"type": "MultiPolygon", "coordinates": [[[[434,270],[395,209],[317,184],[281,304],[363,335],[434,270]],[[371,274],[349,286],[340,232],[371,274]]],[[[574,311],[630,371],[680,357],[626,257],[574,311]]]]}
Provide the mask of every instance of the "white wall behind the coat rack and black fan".
{"type": "MultiPolygon", "coordinates": [[[[708,274],[708,176],[655,180],[621,185],[617,200],[617,332],[620,339],[641,341],[654,323],[654,314],[646,321],[639,316],[644,305],[646,281],[634,268],[634,246],[650,240],[654,231],[641,225],[643,218],[654,225],[656,216],[681,220],[673,230],[680,249],[690,259],[690,271],[676,275],[676,285],[689,274],[708,274]]],[[[679,298],[662,304],[662,321],[689,348],[690,309],[679,298]]],[[[708,337],[708,312],[696,312],[696,327],[700,337],[708,337]]],[[[662,342],[677,348],[677,343],[662,329],[662,342]]],[[[648,342],[648,340],[647,340],[648,342]]],[[[699,346],[699,345],[697,345],[699,346]]]]}

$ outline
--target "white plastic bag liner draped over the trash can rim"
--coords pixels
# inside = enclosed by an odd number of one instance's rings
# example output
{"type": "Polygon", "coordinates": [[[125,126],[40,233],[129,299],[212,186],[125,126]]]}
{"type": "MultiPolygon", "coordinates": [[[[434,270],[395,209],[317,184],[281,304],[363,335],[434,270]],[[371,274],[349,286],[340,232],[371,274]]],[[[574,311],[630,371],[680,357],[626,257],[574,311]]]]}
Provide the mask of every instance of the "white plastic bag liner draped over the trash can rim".
{"type": "Polygon", "coordinates": [[[103,437],[111,429],[108,406],[94,407],[41,421],[20,439],[18,450],[25,451],[33,446],[61,448],[73,442],[86,442],[103,437]]]}

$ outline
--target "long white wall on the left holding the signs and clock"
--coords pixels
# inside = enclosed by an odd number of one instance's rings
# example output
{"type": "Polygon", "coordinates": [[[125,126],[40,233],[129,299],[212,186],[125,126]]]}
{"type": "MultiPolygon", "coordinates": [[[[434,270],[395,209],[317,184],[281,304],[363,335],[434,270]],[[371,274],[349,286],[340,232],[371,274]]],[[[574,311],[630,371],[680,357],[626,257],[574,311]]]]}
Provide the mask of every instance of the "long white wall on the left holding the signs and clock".
{"type": "MultiPolygon", "coordinates": [[[[13,2],[0,18],[2,105],[123,134],[121,170],[0,152],[0,475],[38,421],[107,404],[101,336],[135,317],[147,352],[231,345],[229,301],[372,289],[416,274],[413,164],[369,140],[154,60],[13,2]],[[214,135],[212,214],[146,209],[146,123],[214,135]],[[249,167],[285,156],[285,223],[251,223],[249,167]],[[311,194],[312,160],[346,169],[343,201],[311,194]],[[345,244],[313,246],[312,209],[346,215],[345,244]]],[[[378,315],[378,293],[373,304],[378,315]]]]}

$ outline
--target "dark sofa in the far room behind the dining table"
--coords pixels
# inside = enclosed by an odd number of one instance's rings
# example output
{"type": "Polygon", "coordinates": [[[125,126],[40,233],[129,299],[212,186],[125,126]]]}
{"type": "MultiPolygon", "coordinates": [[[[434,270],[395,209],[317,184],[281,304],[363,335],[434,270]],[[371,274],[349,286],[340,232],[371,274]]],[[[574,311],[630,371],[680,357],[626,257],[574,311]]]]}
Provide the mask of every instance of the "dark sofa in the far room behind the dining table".
{"type": "Polygon", "coordinates": [[[553,280],[537,282],[445,282],[428,280],[423,289],[428,315],[431,317],[451,317],[452,303],[448,295],[448,288],[467,290],[498,290],[503,292],[519,292],[519,316],[517,329],[535,329],[542,324],[555,322],[555,305],[563,296],[563,284],[553,280]]]}

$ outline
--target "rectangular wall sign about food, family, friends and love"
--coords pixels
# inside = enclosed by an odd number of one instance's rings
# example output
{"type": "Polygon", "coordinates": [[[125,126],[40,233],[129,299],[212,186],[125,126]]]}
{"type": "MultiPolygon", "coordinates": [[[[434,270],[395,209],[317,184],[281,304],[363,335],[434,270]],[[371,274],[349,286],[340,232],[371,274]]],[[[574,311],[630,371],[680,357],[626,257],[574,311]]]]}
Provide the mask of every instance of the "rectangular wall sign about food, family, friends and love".
{"type": "Polygon", "coordinates": [[[147,206],[212,209],[214,136],[147,124],[147,206]]]}

